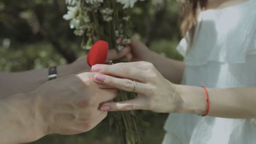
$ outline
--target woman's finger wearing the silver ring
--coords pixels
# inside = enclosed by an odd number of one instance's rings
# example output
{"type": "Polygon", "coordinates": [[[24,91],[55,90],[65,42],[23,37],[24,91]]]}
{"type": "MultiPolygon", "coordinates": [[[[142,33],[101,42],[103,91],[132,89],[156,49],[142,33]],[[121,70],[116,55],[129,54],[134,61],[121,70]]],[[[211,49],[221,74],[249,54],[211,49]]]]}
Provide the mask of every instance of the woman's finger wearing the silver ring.
{"type": "Polygon", "coordinates": [[[103,74],[95,74],[94,79],[97,83],[102,85],[115,87],[128,92],[144,93],[147,91],[146,84],[128,79],[119,79],[117,77],[103,74]]]}

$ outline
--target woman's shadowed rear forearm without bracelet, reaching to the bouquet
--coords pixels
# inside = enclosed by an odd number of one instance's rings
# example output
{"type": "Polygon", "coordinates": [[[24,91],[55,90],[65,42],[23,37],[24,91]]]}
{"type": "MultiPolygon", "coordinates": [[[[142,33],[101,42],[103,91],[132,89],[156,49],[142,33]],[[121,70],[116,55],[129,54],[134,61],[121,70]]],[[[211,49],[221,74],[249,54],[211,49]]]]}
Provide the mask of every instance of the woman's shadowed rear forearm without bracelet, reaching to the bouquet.
{"type": "Polygon", "coordinates": [[[181,83],[185,64],[182,61],[166,58],[158,53],[152,52],[150,62],[152,62],[156,69],[165,77],[165,79],[172,83],[181,83]]]}

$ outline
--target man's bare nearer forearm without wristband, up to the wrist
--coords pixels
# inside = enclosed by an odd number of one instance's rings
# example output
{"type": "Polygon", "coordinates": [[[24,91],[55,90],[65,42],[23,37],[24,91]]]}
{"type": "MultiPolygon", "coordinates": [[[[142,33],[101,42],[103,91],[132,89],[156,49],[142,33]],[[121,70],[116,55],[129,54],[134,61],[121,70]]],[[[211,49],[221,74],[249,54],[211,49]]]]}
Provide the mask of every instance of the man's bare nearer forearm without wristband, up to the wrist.
{"type": "Polygon", "coordinates": [[[33,99],[32,93],[26,93],[0,100],[0,143],[31,142],[44,136],[33,99]]]}

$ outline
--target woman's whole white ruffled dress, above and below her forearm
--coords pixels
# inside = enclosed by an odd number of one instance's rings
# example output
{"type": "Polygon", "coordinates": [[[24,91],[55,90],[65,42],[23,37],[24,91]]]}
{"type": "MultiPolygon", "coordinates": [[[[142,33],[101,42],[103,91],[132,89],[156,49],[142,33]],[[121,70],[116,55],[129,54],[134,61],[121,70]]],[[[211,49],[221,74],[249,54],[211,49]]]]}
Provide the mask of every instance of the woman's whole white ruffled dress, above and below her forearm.
{"type": "MultiPolygon", "coordinates": [[[[190,43],[187,34],[177,49],[187,65],[183,85],[255,87],[256,0],[224,9],[202,11],[193,43],[190,43]]],[[[256,97],[256,93],[254,95],[256,97]]],[[[164,129],[167,131],[162,141],[164,144],[256,143],[255,119],[170,113],[164,129]]]]}

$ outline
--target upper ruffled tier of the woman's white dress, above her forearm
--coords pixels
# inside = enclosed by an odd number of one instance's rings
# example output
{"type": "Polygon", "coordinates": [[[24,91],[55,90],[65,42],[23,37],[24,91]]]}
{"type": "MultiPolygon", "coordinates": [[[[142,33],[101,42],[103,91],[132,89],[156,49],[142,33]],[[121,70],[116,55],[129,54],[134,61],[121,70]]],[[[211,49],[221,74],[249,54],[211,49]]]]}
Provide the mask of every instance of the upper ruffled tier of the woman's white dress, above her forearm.
{"type": "Polygon", "coordinates": [[[255,11],[253,0],[225,9],[203,11],[197,20],[193,41],[187,36],[177,47],[183,56],[187,54],[185,63],[244,63],[247,54],[256,53],[255,11]]]}

